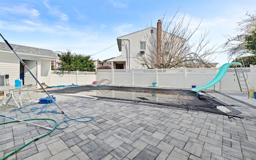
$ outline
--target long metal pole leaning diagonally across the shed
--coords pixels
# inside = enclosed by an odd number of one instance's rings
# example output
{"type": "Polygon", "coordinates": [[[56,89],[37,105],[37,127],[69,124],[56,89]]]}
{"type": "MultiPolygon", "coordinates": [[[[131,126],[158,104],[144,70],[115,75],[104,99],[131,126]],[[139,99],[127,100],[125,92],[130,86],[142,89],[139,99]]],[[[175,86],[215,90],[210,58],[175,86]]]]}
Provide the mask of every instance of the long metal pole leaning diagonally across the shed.
{"type": "Polygon", "coordinates": [[[23,62],[23,60],[20,58],[20,56],[15,52],[15,50],[12,48],[12,46],[8,43],[8,41],[6,39],[4,39],[4,37],[2,36],[2,34],[0,33],[0,36],[3,38],[4,42],[6,42],[6,44],[9,46],[9,48],[14,52],[14,54],[18,57],[18,59],[20,60],[20,62],[22,63],[22,65],[24,67],[27,68],[28,72],[30,72],[30,74],[33,76],[33,78],[36,80],[36,82],[38,82],[38,84],[41,86],[41,88],[44,90],[44,92],[49,96],[49,98],[52,100],[52,102],[54,102],[54,104],[59,108],[59,110],[62,112],[62,114],[65,114],[60,107],[58,106],[58,104],[55,102],[55,100],[52,98],[52,96],[50,96],[50,94],[44,89],[44,87],[42,86],[42,84],[40,84],[40,82],[36,79],[36,77],[34,76],[34,74],[29,70],[29,68],[26,66],[26,64],[23,62]]]}

